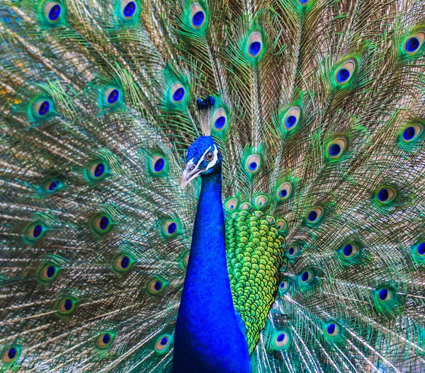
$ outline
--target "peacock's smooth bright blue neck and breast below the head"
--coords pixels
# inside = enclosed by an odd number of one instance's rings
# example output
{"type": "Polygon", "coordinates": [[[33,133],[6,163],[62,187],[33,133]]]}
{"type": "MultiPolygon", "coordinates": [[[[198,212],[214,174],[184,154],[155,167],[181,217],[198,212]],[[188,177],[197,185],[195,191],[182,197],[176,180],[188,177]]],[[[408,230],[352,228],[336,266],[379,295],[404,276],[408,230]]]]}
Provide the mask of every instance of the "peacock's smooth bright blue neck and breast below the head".
{"type": "Polygon", "coordinates": [[[174,338],[174,373],[251,372],[227,273],[221,168],[202,177],[174,338]]]}

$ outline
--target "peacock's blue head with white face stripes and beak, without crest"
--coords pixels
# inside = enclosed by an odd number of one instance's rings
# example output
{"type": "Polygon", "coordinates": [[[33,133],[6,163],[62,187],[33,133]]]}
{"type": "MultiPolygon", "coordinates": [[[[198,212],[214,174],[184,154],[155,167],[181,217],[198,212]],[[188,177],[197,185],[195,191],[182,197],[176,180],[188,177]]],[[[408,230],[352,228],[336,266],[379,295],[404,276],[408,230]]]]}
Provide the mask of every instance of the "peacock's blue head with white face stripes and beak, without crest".
{"type": "Polygon", "coordinates": [[[185,188],[198,176],[205,176],[217,171],[221,164],[222,155],[212,137],[199,137],[188,149],[186,168],[181,176],[181,188],[185,188]]]}

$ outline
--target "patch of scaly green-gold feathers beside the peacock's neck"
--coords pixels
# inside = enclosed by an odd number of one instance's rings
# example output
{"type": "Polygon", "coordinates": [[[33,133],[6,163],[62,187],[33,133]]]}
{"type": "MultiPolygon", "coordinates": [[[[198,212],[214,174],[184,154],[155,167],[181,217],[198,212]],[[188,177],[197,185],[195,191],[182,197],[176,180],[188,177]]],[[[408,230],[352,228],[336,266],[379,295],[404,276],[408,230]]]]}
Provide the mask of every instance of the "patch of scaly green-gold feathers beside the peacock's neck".
{"type": "Polygon", "coordinates": [[[249,202],[226,219],[227,270],[234,309],[246,327],[249,353],[266,326],[280,281],[285,239],[283,222],[254,210],[249,202]],[[278,231],[278,229],[280,229],[278,231]]]}

